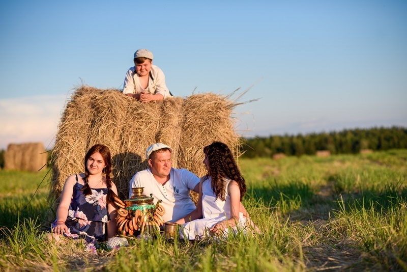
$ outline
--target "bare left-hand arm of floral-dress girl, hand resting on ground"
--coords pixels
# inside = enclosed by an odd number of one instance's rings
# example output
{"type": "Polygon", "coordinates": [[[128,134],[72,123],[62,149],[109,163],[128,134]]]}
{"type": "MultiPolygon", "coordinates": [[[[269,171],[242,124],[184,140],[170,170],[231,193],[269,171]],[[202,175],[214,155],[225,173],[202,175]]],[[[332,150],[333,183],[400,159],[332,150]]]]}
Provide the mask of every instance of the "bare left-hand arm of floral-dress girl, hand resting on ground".
{"type": "Polygon", "coordinates": [[[76,183],[75,175],[71,175],[67,178],[64,184],[64,188],[61,193],[61,202],[56,209],[56,226],[52,229],[52,232],[62,234],[63,231],[67,232],[68,227],[65,225],[65,221],[68,217],[68,209],[71,204],[73,186],[76,183]]]}

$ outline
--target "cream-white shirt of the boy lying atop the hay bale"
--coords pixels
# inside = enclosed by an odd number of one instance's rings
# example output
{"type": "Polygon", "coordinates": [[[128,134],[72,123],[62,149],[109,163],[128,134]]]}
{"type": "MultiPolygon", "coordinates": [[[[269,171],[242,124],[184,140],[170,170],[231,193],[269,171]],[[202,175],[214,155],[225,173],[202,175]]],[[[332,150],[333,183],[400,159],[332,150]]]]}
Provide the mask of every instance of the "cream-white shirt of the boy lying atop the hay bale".
{"type": "Polygon", "coordinates": [[[140,78],[136,72],[136,67],[133,66],[127,71],[126,77],[124,79],[123,93],[124,94],[139,94],[142,91],[148,92],[151,94],[161,94],[162,96],[164,96],[164,99],[166,97],[171,96],[169,94],[169,90],[168,90],[167,86],[165,85],[164,73],[162,72],[162,70],[160,68],[158,68],[155,65],[151,66],[150,77],[149,77],[149,86],[147,87],[146,90],[141,89],[140,78]]]}

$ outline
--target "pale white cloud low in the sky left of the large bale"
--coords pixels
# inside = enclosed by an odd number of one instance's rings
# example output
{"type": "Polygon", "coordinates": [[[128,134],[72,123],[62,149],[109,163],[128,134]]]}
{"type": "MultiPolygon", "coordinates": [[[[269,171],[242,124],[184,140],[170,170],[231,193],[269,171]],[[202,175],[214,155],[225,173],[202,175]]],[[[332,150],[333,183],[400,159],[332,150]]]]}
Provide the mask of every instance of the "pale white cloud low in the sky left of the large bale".
{"type": "Polygon", "coordinates": [[[64,110],[65,95],[41,95],[0,99],[0,149],[10,143],[54,144],[54,135],[64,110]]]}

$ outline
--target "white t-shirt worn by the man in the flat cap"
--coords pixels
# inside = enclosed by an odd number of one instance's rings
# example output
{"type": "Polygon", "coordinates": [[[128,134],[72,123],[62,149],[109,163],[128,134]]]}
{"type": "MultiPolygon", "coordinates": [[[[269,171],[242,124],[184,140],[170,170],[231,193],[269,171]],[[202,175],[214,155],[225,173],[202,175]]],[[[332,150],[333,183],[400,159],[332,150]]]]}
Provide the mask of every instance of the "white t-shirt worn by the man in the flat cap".
{"type": "Polygon", "coordinates": [[[169,175],[169,180],[161,185],[154,178],[150,168],[137,172],[130,180],[129,198],[133,196],[133,187],[144,187],[143,194],[148,197],[153,194],[154,203],[159,199],[162,200],[160,205],[165,209],[163,220],[176,222],[196,209],[189,192],[199,183],[199,178],[184,168],[171,168],[169,175]]]}

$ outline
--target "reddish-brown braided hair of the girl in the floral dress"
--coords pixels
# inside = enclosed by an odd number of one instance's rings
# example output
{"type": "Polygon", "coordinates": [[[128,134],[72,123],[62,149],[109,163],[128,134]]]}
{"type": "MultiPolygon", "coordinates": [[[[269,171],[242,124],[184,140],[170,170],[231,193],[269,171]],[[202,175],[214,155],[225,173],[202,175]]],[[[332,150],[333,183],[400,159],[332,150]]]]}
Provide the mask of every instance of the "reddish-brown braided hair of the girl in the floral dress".
{"type": "Polygon", "coordinates": [[[113,198],[115,196],[117,196],[117,195],[114,194],[114,192],[111,189],[111,186],[112,186],[112,181],[111,181],[111,178],[110,178],[110,174],[111,174],[111,156],[110,156],[110,149],[105,145],[100,145],[100,144],[94,145],[86,153],[86,155],[85,155],[85,185],[83,186],[81,191],[83,191],[83,194],[85,196],[88,196],[88,195],[92,194],[91,186],[89,186],[89,180],[88,180],[88,178],[89,178],[89,170],[86,167],[86,162],[92,156],[92,154],[94,154],[96,152],[99,152],[100,155],[102,155],[103,160],[105,162],[105,168],[103,169],[102,173],[105,174],[106,185],[107,185],[107,188],[109,189],[109,191],[107,193],[106,202],[107,203],[113,203],[113,198]]]}

